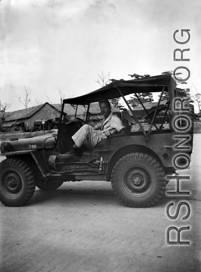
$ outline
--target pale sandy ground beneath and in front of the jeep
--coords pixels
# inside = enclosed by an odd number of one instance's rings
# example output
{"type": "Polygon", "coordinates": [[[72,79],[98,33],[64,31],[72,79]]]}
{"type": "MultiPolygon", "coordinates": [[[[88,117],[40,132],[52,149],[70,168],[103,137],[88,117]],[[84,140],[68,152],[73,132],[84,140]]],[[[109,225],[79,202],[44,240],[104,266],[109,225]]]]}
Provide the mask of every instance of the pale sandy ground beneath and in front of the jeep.
{"type": "MultiPolygon", "coordinates": [[[[15,272],[199,272],[200,269],[200,134],[194,135],[191,169],[179,171],[189,196],[167,196],[150,208],[129,208],[114,195],[110,182],[64,183],[54,192],[36,189],[22,207],[0,205],[1,268],[15,272]],[[190,216],[179,202],[190,205],[190,216]],[[180,240],[190,245],[166,245],[170,226],[190,226],[180,240]]],[[[170,181],[167,191],[176,189],[170,181]]],[[[176,241],[176,232],[170,232],[176,241]]]]}

